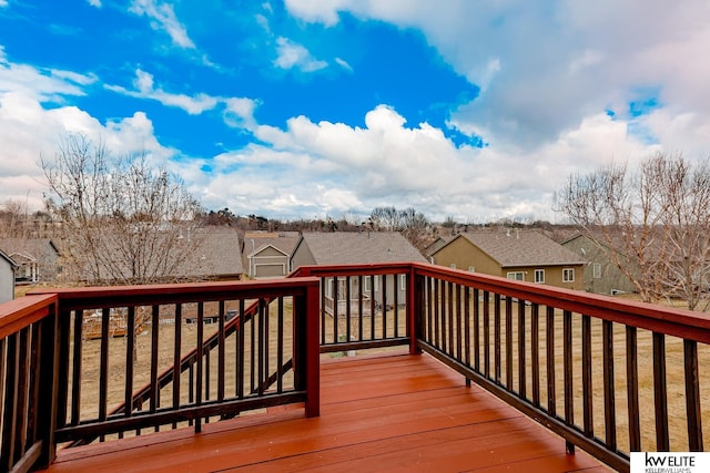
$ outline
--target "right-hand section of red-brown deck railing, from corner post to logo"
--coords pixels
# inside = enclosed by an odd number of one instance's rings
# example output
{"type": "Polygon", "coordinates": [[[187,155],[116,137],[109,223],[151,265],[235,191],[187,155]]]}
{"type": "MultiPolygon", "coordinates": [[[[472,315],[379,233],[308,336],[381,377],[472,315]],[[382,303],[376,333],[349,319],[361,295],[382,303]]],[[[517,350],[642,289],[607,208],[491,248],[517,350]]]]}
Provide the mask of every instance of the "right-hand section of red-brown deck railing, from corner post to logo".
{"type": "Polygon", "coordinates": [[[631,451],[703,450],[709,315],[436,266],[414,273],[417,347],[569,452],[629,471],[631,451]]]}

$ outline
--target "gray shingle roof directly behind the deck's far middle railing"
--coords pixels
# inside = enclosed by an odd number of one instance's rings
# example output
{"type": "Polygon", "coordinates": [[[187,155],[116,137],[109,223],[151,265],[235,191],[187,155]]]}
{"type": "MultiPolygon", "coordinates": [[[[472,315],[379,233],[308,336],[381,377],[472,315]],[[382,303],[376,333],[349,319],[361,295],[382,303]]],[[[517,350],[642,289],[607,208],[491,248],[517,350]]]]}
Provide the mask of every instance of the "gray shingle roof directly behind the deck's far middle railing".
{"type": "Polygon", "coordinates": [[[296,249],[304,244],[316,265],[426,263],[424,256],[395,232],[304,233],[296,249]]]}

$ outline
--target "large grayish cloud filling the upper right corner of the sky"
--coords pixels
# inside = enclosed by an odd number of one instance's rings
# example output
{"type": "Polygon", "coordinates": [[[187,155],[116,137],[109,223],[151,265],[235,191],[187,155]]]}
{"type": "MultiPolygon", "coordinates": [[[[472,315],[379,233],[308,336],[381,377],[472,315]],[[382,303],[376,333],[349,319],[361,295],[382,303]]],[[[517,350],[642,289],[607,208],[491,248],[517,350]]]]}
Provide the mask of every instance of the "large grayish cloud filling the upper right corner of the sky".
{"type": "MultiPolygon", "coordinates": [[[[639,88],[710,122],[707,2],[660,0],[535,2],[452,0],[287,0],[305,21],[333,25],[349,12],[363,20],[420,30],[481,95],[453,116],[462,127],[541,146],[613,105],[626,113],[639,88]]],[[[486,136],[484,136],[486,140],[486,136]]]]}

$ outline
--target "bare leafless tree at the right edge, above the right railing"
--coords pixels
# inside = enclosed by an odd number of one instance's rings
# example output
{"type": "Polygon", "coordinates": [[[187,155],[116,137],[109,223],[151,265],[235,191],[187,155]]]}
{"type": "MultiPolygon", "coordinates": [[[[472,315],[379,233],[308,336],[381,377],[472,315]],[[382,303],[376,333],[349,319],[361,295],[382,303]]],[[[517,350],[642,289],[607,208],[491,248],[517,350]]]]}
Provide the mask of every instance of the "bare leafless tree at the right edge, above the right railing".
{"type": "Polygon", "coordinates": [[[558,210],[637,288],[641,299],[708,301],[710,165],[657,153],[638,171],[611,164],[569,177],[558,210]]]}

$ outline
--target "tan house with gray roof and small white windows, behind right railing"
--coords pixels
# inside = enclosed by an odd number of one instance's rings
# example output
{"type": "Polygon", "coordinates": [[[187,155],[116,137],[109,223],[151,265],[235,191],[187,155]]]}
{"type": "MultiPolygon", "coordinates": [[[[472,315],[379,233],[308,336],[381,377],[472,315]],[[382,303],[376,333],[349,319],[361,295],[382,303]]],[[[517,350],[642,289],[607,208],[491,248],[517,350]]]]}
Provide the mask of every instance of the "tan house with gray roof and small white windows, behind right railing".
{"type": "Polygon", "coordinates": [[[535,230],[458,234],[432,255],[436,265],[508,279],[584,289],[585,258],[535,230]]]}

